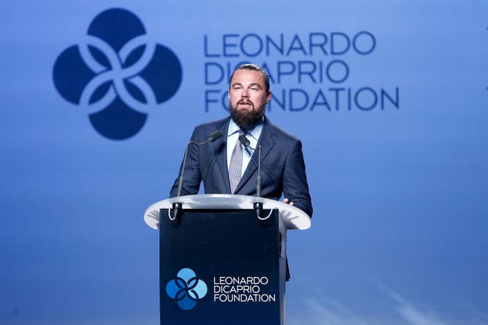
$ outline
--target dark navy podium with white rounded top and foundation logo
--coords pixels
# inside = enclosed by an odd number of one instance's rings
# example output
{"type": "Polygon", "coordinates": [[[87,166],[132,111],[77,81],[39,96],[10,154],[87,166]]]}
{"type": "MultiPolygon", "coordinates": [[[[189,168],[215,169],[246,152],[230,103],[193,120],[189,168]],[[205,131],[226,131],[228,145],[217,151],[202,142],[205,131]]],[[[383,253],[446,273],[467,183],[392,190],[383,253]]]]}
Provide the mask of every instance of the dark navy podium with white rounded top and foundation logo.
{"type": "Polygon", "coordinates": [[[154,203],[144,221],[160,230],[161,325],[284,324],[287,230],[310,228],[305,212],[204,194],[154,203]],[[182,203],[176,219],[173,203],[182,203]]]}

